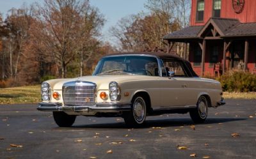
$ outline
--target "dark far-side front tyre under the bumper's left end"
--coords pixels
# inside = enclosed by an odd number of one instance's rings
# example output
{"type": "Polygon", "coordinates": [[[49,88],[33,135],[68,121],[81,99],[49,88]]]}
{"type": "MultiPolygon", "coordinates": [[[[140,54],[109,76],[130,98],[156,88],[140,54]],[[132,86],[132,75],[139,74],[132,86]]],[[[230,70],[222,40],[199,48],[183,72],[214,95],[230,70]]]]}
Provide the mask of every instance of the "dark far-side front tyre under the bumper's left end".
{"type": "Polygon", "coordinates": [[[76,116],[70,116],[65,112],[52,112],[55,123],[60,127],[70,127],[76,121],[76,116]]]}

